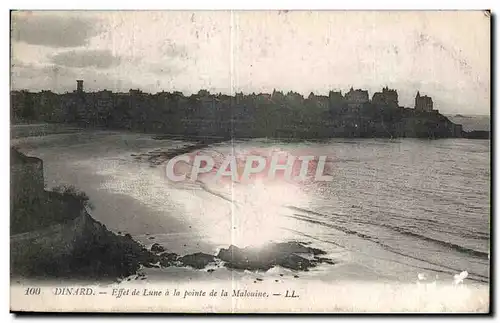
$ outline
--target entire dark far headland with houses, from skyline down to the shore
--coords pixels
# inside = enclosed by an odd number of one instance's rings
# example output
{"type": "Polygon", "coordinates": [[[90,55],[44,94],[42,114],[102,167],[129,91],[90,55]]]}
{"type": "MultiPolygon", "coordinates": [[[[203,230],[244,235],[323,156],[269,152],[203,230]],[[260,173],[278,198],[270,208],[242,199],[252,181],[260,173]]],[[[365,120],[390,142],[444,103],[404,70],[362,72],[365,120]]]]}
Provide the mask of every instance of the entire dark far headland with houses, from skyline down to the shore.
{"type": "Polygon", "coordinates": [[[471,138],[489,139],[489,131],[466,132],[434,109],[431,97],[415,96],[402,107],[396,90],[383,88],[370,99],[366,90],[330,91],[328,96],[295,92],[211,94],[200,90],[149,94],[140,90],[85,92],[11,92],[11,122],[64,123],[83,127],[180,135],[183,137],[324,139],[471,138]]]}

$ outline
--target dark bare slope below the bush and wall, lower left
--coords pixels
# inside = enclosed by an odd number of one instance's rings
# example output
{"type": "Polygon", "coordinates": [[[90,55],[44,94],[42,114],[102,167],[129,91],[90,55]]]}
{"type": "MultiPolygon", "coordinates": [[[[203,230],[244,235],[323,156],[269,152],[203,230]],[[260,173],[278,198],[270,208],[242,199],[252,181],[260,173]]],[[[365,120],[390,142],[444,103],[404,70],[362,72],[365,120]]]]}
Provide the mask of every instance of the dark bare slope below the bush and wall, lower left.
{"type": "Polygon", "coordinates": [[[130,236],[118,236],[85,210],[74,219],[12,235],[11,275],[116,279],[134,274],[153,255],[130,236]]]}

